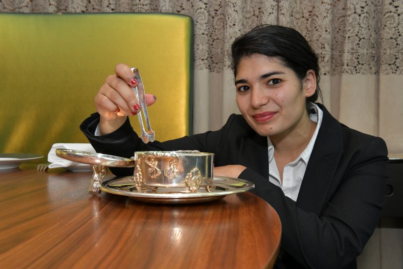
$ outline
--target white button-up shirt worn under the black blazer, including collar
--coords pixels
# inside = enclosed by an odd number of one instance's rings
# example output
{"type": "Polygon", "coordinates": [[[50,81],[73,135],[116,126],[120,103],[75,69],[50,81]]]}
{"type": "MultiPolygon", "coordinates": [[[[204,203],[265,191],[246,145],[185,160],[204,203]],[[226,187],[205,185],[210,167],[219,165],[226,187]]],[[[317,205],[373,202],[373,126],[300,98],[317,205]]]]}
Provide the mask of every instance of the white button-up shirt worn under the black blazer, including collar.
{"type": "Polygon", "coordinates": [[[315,144],[316,137],[319,132],[320,125],[322,123],[323,112],[319,107],[310,103],[310,109],[315,110],[315,114],[310,113],[309,118],[311,121],[316,122],[315,132],[312,135],[309,144],[301,152],[301,154],[291,163],[287,164],[283,170],[283,185],[280,180],[280,173],[276,165],[274,158],[274,146],[272,140],[267,136],[268,145],[268,180],[273,184],[279,186],[287,197],[290,197],[294,201],[297,201],[299,189],[301,188],[302,179],[305,174],[306,166],[311,156],[313,145],[315,144]]]}

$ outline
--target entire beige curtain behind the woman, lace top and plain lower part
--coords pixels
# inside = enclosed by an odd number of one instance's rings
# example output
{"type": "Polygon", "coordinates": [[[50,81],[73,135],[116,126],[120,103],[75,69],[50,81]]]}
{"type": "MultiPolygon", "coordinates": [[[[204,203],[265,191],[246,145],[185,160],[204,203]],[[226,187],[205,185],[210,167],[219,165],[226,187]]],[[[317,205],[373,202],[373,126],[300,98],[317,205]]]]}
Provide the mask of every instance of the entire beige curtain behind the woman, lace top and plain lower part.
{"type": "Polygon", "coordinates": [[[0,12],[166,12],[194,20],[194,130],[237,113],[228,48],[262,23],[299,30],[320,57],[324,104],[403,152],[402,0],[0,0],[0,12]]]}

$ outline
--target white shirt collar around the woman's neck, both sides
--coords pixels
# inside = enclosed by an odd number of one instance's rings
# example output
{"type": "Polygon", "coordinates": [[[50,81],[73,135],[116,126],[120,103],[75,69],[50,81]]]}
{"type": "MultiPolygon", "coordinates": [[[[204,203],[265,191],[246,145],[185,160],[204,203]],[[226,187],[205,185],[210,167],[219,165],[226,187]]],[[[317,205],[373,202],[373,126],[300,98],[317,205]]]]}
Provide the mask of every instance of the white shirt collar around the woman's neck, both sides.
{"type": "MultiPolygon", "coordinates": [[[[318,136],[320,125],[322,124],[322,118],[323,118],[323,111],[319,108],[319,106],[317,106],[317,104],[309,102],[308,110],[309,110],[310,120],[317,123],[316,128],[315,128],[315,131],[313,132],[311,140],[309,141],[306,148],[295,159],[295,161],[302,159],[304,161],[305,165],[308,164],[309,158],[310,158],[312,150],[313,150],[313,146],[316,141],[316,137],[318,136]]],[[[268,136],[267,136],[267,148],[268,148],[268,163],[270,164],[274,157],[274,146],[273,146],[272,140],[270,140],[270,137],[268,137],[268,136]]]]}

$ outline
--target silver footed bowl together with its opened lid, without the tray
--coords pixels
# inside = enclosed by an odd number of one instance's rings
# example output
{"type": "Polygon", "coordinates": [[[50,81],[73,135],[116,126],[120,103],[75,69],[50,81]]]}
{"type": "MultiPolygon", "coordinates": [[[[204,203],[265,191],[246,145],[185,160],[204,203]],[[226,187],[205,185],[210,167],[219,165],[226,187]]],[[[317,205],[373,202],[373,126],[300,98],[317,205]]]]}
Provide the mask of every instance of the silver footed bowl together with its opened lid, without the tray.
{"type": "MultiPolygon", "coordinates": [[[[130,159],[74,149],[56,149],[56,155],[73,162],[92,165],[93,176],[88,192],[98,195],[107,167],[135,167],[136,190],[149,187],[184,188],[196,193],[213,181],[213,153],[196,150],[138,151],[130,159]]],[[[177,189],[175,189],[176,191],[177,189]]]]}

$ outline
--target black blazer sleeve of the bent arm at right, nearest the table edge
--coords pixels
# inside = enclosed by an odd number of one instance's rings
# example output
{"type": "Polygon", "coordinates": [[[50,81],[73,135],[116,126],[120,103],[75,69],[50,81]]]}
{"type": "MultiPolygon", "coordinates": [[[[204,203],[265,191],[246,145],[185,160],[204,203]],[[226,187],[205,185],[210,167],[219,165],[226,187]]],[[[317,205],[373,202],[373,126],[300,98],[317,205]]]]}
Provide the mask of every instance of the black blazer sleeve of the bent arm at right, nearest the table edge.
{"type": "Polygon", "coordinates": [[[387,178],[386,156],[384,141],[373,137],[350,160],[343,180],[319,216],[299,208],[281,188],[251,169],[239,177],[253,181],[252,192],[276,209],[286,254],[309,268],[346,268],[356,264],[379,220],[387,178]]]}

